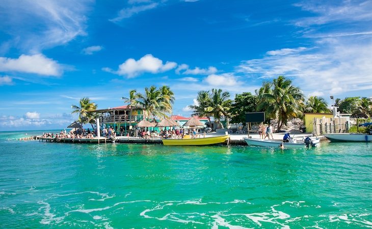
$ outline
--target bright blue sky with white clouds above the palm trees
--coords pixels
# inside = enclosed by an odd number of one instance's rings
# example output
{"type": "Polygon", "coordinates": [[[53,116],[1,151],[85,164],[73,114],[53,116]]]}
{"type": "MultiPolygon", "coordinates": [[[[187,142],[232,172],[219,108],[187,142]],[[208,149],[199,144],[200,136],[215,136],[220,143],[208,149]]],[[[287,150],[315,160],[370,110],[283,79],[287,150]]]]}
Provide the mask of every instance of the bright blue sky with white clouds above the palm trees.
{"type": "Polygon", "coordinates": [[[306,97],[372,96],[372,1],[0,0],[0,131],[65,128],[168,85],[189,117],[200,90],[279,75],[306,97]]]}

